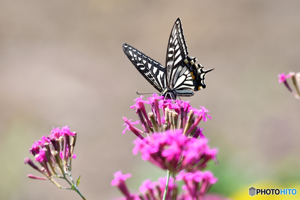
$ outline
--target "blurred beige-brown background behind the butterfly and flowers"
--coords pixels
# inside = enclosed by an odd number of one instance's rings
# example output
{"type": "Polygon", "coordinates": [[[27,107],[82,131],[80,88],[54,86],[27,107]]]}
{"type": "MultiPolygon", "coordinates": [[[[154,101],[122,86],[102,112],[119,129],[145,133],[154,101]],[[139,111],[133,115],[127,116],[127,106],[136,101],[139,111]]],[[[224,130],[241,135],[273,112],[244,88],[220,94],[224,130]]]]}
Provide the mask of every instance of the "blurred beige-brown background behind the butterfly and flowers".
{"type": "Polygon", "coordinates": [[[300,102],[277,79],[300,71],[299,8],[297,0],[1,0],[0,199],[80,199],[26,177],[38,172],[24,157],[33,159],[29,148],[52,126],[78,133],[72,172],[87,199],[121,196],[110,186],[118,170],[132,174],[131,191],[165,176],[132,154],[133,133],[122,134],[122,116],[137,120],[136,92],[157,92],[122,43],[164,65],[178,17],[189,55],[215,68],[205,89],[183,98],[212,117],[199,124],[219,149],[211,192],[239,199],[265,181],[299,185],[300,102]]]}

